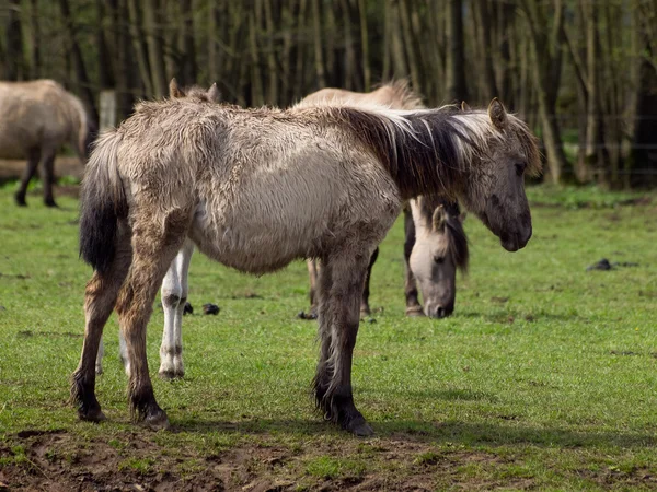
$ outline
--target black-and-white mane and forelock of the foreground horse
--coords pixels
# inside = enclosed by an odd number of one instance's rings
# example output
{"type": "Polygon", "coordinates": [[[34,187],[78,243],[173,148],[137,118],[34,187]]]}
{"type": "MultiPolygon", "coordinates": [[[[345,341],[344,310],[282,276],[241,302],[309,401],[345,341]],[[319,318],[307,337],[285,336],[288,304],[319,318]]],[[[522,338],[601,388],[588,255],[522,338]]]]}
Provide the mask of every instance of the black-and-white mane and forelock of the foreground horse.
{"type": "MultiPolygon", "coordinates": [[[[395,110],[378,105],[322,107],[354,130],[377,154],[396,181],[403,198],[448,194],[471,163],[488,153],[493,141],[512,132],[527,157],[527,172],[538,175],[541,159],[527,125],[507,114],[507,128],[497,130],[485,109],[461,110],[454,105],[436,109],[395,110]]],[[[449,199],[456,197],[448,196],[449,199]]]]}

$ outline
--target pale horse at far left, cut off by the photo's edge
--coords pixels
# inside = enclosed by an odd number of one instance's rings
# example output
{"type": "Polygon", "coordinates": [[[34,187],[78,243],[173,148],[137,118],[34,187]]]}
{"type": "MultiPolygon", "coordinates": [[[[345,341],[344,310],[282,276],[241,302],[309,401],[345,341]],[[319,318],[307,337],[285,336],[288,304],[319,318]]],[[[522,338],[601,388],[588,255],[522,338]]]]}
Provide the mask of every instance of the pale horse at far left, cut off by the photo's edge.
{"type": "Polygon", "coordinates": [[[69,143],[84,164],[94,134],[95,125],[80,99],[57,82],[0,82],[0,157],[27,159],[14,197],[18,204],[26,204],[27,185],[41,162],[44,202],[56,207],[55,154],[69,143]]]}

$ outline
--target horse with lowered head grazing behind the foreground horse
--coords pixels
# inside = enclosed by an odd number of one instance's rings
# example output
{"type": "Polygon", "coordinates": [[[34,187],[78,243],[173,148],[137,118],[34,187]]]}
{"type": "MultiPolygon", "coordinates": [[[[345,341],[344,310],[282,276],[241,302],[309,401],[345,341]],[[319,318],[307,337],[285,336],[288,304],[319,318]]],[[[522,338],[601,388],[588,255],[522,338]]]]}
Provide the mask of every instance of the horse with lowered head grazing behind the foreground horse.
{"type": "MultiPolygon", "coordinates": [[[[408,87],[405,80],[389,82],[379,89],[359,93],[342,89],[322,89],[304,97],[298,106],[331,105],[335,103],[350,105],[380,104],[391,109],[425,109],[422,99],[408,87]]],[[[404,261],[406,295],[406,315],[427,315],[442,318],[452,314],[457,296],[457,269],[468,270],[468,237],[460,220],[459,204],[440,197],[412,199],[404,207],[404,261]],[[433,204],[434,208],[427,207],[433,204]],[[440,208],[440,210],[438,210],[440,208]],[[420,224],[420,234],[416,233],[416,223],[420,224]],[[428,226],[423,226],[427,224],[428,226]],[[412,260],[413,259],[413,260],[412,260]],[[425,302],[425,309],[417,298],[417,280],[425,302]]],[[[360,301],[360,316],[369,316],[369,284],[372,266],[379,256],[374,249],[365,279],[365,289],[360,301]]],[[[301,312],[300,318],[314,319],[318,312],[316,282],[320,263],[308,260],[310,277],[310,311],[301,312]]]]}

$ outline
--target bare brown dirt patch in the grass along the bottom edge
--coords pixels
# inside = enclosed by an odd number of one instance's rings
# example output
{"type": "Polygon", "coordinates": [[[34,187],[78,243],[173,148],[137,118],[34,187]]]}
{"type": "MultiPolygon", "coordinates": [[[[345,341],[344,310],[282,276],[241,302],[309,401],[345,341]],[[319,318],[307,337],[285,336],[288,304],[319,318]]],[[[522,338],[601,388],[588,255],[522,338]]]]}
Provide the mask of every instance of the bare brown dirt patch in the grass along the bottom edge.
{"type": "MultiPolygon", "coordinates": [[[[407,434],[339,445],[311,440],[301,448],[288,448],[267,437],[265,442],[245,438],[229,449],[205,454],[193,447],[160,445],[157,440],[157,433],[145,430],[108,433],[107,442],[65,430],[25,430],[0,444],[0,491],[430,491],[462,480],[468,483],[460,485],[466,490],[488,490],[499,484],[460,477],[459,467],[512,462],[483,452],[433,453],[430,443],[407,434]],[[307,472],[309,458],[350,459],[362,449],[383,468],[337,477],[307,472]]],[[[506,480],[505,485],[518,485],[511,482],[506,480]]]]}

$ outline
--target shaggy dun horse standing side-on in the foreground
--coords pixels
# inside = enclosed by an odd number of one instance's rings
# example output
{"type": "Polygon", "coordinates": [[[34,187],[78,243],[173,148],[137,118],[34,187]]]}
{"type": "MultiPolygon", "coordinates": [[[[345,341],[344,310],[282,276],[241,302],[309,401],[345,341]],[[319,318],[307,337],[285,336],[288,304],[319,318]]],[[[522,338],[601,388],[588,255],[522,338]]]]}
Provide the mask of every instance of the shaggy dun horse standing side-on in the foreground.
{"type": "Polygon", "coordinates": [[[155,429],[169,425],[148,372],[146,329],[164,274],[189,238],[249,273],[322,261],[316,406],[347,431],[370,435],[351,389],[360,294],[371,254],[404,200],[458,198],[516,251],[532,232],[523,177],[540,165],[534,137],[497,99],[487,112],[138,104],[100,137],[81,189],[80,253],[94,273],[71,383],[78,415],[104,419],[94,368],[116,308],[134,414],[155,429]]]}

